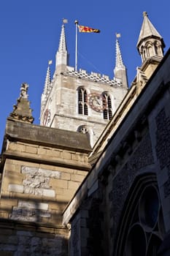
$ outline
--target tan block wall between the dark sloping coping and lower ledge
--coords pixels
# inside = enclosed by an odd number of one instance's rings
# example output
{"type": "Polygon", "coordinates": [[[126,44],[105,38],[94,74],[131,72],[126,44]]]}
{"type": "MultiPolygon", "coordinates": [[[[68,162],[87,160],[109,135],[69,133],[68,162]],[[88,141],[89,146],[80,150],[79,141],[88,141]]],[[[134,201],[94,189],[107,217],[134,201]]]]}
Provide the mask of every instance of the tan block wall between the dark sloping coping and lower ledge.
{"type": "Polygon", "coordinates": [[[86,171],[55,166],[58,160],[85,164],[81,153],[11,142],[6,153],[28,159],[6,159],[1,185],[0,216],[35,222],[61,223],[61,213],[86,176],[86,171]],[[34,162],[37,156],[48,164],[34,162]],[[51,161],[51,164],[50,164],[51,161]],[[53,162],[54,161],[54,162],[53,162]],[[79,162],[79,163],[80,163],[79,162]]]}

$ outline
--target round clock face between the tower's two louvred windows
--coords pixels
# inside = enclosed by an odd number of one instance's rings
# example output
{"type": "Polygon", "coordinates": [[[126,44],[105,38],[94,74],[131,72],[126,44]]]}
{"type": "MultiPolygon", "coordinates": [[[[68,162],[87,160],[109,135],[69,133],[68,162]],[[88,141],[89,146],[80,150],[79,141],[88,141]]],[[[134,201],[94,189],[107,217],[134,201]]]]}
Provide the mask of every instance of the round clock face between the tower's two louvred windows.
{"type": "Polygon", "coordinates": [[[106,108],[107,102],[101,94],[93,93],[88,94],[88,105],[90,105],[90,108],[93,110],[101,112],[106,108]]]}

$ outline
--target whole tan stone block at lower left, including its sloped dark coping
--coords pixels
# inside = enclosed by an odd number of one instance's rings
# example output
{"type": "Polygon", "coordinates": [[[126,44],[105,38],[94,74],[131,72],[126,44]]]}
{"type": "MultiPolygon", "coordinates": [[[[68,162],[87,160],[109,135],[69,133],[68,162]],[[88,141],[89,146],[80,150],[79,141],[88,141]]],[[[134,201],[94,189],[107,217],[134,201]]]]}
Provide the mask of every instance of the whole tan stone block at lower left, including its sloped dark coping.
{"type": "Polygon", "coordinates": [[[62,213],[88,173],[85,135],[7,121],[1,157],[0,255],[68,255],[62,213]]]}

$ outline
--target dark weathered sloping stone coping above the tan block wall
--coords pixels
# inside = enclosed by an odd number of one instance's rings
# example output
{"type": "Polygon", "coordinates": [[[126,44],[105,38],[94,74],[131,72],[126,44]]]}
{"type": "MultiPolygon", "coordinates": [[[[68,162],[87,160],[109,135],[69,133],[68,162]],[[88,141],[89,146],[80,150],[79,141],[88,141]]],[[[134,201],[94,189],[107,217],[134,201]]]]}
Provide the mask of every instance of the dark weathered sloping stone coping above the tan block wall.
{"type": "Polygon", "coordinates": [[[23,121],[15,121],[12,118],[7,118],[5,138],[82,153],[90,153],[92,150],[85,134],[28,124],[23,121]]]}

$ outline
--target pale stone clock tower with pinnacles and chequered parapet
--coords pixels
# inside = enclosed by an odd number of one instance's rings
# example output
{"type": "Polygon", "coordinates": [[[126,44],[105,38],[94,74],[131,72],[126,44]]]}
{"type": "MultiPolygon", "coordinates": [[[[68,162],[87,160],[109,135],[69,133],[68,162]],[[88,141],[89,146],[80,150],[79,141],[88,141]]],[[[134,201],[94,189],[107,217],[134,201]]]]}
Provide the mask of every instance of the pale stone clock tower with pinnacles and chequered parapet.
{"type": "Polygon", "coordinates": [[[50,79],[47,67],[42,94],[40,124],[47,127],[86,133],[90,145],[96,143],[104,127],[128,91],[126,69],[116,41],[115,77],[96,72],[88,74],[69,66],[64,24],[50,79]]]}

